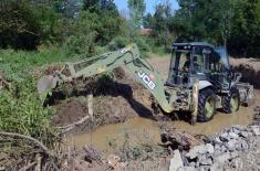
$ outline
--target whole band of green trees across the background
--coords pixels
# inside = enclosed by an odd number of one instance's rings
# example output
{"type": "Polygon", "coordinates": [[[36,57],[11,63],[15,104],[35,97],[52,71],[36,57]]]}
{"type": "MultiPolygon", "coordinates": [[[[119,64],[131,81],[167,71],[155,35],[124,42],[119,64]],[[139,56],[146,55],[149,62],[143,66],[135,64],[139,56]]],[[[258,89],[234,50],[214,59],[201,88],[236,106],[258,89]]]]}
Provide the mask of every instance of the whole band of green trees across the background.
{"type": "Polygon", "coordinates": [[[144,0],[127,3],[124,19],[114,0],[2,0],[0,47],[61,44],[71,53],[92,54],[107,44],[143,42],[168,51],[174,41],[207,41],[233,55],[260,55],[260,0],[178,0],[175,11],[164,0],[146,15],[144,0]],[[149,38],[139,35],[143,26],[153,30],[149,38]]]}

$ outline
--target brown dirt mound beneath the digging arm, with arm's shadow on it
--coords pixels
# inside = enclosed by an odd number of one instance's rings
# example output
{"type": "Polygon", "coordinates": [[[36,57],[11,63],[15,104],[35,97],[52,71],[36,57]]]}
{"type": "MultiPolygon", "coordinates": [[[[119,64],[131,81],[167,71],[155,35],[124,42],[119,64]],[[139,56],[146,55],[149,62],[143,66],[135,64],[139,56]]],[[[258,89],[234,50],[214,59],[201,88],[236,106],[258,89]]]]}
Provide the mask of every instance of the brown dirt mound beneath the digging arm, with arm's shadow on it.
{"type": "Polygon", "coordinates": [[[94,95],[93,120],[87,120],[77,127],[76,131],[91,130],[105,124],[124,122],[136,116],[152,117],[149,93],[141,84],[122,74],[122,71],[115,74],[114,79],[107,76],[81,79],[54,92],[55,97],[50,100],[55,110],[53,125],[63,127],[87,116],[90,93],[94,95]]]}

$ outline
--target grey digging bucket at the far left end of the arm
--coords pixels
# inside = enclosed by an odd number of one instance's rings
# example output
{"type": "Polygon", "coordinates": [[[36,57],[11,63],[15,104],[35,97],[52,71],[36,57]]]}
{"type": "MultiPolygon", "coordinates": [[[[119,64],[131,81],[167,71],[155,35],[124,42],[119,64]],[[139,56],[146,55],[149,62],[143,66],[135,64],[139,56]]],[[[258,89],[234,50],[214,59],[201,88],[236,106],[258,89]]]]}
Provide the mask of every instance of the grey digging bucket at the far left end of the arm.
{"type": "Polygon", "coordinates": [[[51,90],[56,87],[58,82],[59,79],[53,75],[42,76],[38,81],[37,89],[42,101],[44,101],[51,90]]]}

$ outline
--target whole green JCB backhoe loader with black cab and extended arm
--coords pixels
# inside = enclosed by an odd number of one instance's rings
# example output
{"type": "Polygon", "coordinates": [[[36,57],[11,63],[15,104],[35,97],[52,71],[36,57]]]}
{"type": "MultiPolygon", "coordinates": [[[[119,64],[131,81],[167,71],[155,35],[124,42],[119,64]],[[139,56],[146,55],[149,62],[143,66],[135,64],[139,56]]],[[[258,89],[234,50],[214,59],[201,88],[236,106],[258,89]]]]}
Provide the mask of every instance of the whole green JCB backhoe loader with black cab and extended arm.
{"type": "Polygon", "coordinates": [[[91,77],[117,67],[127,68],[152,94],[155,111],[190,111],[191,122],[209,121],[217,108],[231,114],[240,104],[253,100],[253,86],[240,83],[241,74],[231,73],[226,49],[202,42],[174,43],[166,83],[136,44],[76,63],[67,63],[70,74],[56,71],[38,83],[42,97],[56,86],[80,77],[91,77]]]}

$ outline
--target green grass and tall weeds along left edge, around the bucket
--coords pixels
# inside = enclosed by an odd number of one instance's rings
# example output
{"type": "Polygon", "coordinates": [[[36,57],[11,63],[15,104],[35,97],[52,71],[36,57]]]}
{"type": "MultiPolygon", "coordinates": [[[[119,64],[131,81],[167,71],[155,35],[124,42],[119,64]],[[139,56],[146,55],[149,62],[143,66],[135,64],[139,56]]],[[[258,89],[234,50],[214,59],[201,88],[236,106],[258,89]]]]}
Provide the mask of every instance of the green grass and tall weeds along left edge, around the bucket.
{"type": "Polygon", "coordinates": [[[3,77],[11,83],[0,90],[1,131],[31,136],[52,145],[56,133],[50,124],[52,111],[41,106],[31,71],[65,60],[56,47],[39,52],[0,51],[0,73],[3,72],[3,77]]]}

